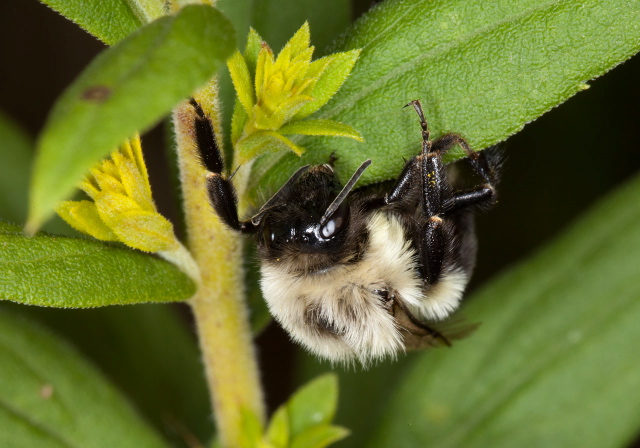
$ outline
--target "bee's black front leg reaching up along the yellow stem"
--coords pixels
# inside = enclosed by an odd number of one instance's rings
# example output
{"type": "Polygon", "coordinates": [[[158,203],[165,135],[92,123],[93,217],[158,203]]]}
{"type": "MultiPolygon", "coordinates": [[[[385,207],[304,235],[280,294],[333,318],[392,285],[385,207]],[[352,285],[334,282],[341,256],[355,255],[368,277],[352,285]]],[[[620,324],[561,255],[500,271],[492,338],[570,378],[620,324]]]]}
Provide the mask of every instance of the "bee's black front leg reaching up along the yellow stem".
{"type": "Polygon", "coordinates": [[[233,230],[251,233],[255,226],[251,221],[241,222],[238,219],[238,198],[231,177],[223,174],[224,162],[220,154],[218,140],[211,119],[205,114],[200,104],[193,98],[190,100],[195,110],[193,127],[200,158],[207,169],[207,191],[209,201],[220,219],[233,230]]]}

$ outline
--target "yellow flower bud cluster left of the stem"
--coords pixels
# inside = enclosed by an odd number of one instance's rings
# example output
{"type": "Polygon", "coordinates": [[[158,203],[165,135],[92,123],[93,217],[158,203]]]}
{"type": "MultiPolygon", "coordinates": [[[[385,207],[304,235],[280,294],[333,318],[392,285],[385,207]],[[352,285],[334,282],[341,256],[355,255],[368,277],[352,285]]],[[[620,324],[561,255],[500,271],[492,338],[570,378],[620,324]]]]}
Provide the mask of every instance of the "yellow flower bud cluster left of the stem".
{"type": "Polygon", "coordinates": [[[73,228],[145,252],[181,247],[173,226],[158,213],[151,197],[139,136],[96,165],[79,187],[91,201],[65,201],[56,210],[73,228]]]}

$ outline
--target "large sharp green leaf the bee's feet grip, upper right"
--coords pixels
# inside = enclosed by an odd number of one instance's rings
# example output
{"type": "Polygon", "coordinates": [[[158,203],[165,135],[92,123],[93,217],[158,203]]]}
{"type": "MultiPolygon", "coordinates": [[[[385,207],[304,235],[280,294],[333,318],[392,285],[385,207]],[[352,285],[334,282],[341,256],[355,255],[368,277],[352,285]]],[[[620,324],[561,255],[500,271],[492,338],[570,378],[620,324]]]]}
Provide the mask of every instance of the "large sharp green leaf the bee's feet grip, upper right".
{"type": "Polygon", "coordinates": [[[414,99],[434,137],[460,133],[476,150],[504,140],[640,50],[638,23],[640,4],[626,0],[384,2],[346,35],[341,49],[362,54],[316,114],[353,126],[366,145],[296,141],[307,149],[302,158],[281,153],[254,164],[252,198],[258,184],[275,191],[297,166],[326,163],[334,151],[342,178],[368,158],[363,185],[395,177],[402,158],[419,151],[417,118],[403,109],[414,99]]]}

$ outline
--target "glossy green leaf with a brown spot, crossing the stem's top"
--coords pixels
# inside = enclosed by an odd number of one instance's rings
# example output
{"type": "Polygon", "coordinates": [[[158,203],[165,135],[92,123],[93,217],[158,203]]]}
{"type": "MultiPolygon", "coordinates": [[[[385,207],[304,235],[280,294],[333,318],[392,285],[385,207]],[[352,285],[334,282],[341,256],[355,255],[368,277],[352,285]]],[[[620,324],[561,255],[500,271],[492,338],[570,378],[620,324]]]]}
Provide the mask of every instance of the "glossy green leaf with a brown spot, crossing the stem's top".
{"type": "Polygon", "coordinates": [[[205,83],[234,49],[233,34],[217,10],[187,6],[96,58],[59,99],[40,137],[30,231],[94,163],[205,83]]]}

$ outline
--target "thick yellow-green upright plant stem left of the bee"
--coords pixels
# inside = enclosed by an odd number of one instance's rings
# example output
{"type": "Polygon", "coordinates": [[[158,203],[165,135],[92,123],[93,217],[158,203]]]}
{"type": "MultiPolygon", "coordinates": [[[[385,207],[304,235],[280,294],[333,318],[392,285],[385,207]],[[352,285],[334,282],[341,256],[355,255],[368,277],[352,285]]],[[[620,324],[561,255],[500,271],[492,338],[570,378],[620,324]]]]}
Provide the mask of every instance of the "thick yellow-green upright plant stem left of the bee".
{"type": "MultiPolygon", "coordinates": [[[[196,95],[196,99],[219,129],[217,111],[205,101],[208,98],[210,103],[215,97],[211,93],[203,94],[202,100],[196,95]]],[[[202,276],[191,306],[219,440],[224,447],[238,447],[243,411],[264,422],[263,394],[245,300],[242,240],[220,222],[209,203],[206,171],[194,139],[194,114],[193,107],[185,102],[173,116],[188,244],[202,276]]]]}

